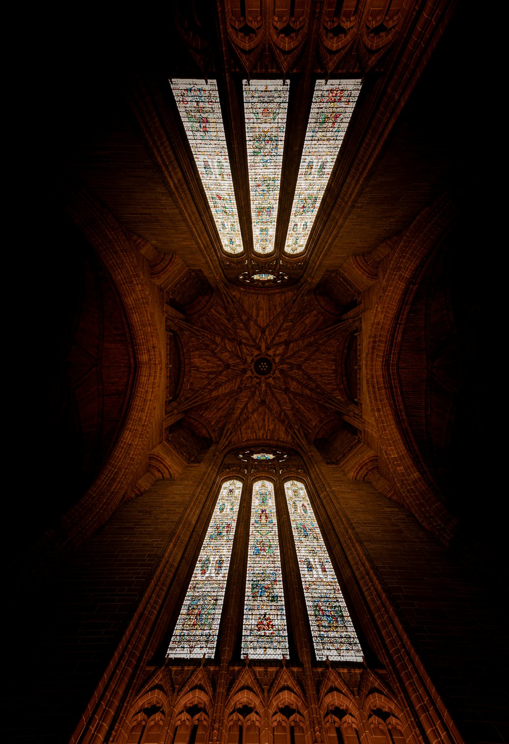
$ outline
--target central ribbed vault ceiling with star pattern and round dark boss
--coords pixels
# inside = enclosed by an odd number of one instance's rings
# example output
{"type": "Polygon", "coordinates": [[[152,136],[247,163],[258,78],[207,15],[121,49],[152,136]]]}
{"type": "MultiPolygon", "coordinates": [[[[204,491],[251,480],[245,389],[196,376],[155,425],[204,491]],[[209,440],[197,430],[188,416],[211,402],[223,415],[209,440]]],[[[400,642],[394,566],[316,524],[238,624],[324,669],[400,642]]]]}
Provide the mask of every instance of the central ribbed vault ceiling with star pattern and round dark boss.
{"type": "Polygon", "coordinates": [[[253,289],[218,292],[198,315],[170,311],[168,325],[188,360],[182,391],[166,409],[167,437],[178,449],[180,430],[170,422],[196,429],[190,417],[221,449],[259,442],[306,449],[325,421],[333,429],[344,422],[349,432],[362,427],[345,365],[359,321],[325,312],[306,285],[261,297],[253,289]]]}

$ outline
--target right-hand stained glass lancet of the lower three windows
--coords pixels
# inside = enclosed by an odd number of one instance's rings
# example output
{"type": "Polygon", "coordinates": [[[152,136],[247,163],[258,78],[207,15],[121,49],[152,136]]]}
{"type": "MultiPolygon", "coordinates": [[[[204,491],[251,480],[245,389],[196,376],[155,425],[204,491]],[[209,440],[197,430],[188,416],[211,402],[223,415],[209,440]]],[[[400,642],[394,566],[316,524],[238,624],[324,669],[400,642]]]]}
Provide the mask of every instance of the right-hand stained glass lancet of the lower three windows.
{"type": "Polygon", "coordinates": [[[304,484],[284,484],[316,658],[362,661],[362,649],[304,484]]]}

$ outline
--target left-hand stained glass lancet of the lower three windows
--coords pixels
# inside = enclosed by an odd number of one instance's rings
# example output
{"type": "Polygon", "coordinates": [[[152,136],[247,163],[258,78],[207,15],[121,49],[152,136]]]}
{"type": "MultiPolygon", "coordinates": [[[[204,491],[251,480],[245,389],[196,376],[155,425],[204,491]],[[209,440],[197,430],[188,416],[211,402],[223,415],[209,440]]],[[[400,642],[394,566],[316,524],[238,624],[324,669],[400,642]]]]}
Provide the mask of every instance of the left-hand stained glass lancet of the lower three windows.
{"type": "Polygon", "coordinates": [[[214,658],[242,483],[226,481],[208,526],[167,650],[170,658],[214,658]]]}

